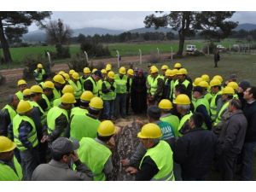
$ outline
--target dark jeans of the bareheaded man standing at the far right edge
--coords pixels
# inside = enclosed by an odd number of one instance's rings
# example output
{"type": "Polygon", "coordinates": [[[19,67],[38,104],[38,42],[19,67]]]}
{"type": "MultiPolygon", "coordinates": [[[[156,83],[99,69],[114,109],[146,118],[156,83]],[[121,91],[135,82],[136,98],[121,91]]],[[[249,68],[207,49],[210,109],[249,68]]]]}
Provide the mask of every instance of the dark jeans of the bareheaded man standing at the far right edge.
{"type": "Polygon", "coordinates": [[[244,143],[241,151],[241,180],[253,180],[253,148],[256,142],[244,143]]]}

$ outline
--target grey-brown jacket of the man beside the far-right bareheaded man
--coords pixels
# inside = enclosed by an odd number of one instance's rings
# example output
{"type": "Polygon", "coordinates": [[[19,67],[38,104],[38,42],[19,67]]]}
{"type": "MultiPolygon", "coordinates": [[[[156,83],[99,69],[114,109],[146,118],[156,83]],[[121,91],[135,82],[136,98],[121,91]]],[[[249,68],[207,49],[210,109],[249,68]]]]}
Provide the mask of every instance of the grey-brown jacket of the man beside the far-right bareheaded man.
{"type": "Polygon", "coordinates": [[[240,154],[247,131],[247,119],[241,110],[231,113],[224,121],[218,137],[218,153],[240,154]]]}

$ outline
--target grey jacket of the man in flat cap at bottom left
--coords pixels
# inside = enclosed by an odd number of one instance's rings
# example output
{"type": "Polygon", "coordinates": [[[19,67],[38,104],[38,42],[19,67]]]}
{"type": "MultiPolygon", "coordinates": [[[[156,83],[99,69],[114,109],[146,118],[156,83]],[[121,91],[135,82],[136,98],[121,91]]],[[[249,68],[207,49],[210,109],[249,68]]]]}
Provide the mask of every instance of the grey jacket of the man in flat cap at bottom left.
{"type": "Polygon", "coordinates": [[[32,174],[32,181],[91,181],[92,173],[83,163],[73,171],[67,164],[50,160],[39,165],[32,174]]]}

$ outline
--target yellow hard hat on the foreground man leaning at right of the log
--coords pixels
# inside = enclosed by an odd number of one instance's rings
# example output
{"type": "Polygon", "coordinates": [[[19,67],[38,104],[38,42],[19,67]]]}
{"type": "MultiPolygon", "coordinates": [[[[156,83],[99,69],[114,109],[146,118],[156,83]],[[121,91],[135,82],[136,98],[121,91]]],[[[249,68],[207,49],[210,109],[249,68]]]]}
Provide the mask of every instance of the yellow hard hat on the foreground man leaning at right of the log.
{"type": "Polygon", "coordinates": [[[137,134],[139,138],[160,138],[162,137],[162,131],[160,127],[156,124],[146,124],[143,125],[142,130],[137,134]]]}

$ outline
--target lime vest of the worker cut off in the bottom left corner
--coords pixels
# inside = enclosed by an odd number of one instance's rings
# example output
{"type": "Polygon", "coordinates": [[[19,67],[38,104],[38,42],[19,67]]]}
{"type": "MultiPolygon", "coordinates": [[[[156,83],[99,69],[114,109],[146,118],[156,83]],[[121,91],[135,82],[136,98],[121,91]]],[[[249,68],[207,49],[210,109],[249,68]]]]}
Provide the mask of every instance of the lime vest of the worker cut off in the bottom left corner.
{"type": "Polygon", "coordinates": [[[23,174],[20,163],[14,156],[15,170],[0,161],[0,181],[21,181],[23,174]]]}

